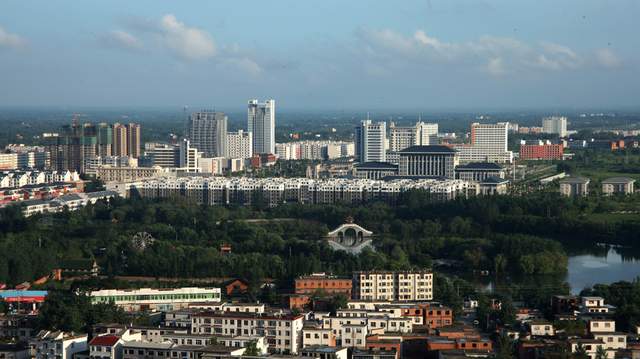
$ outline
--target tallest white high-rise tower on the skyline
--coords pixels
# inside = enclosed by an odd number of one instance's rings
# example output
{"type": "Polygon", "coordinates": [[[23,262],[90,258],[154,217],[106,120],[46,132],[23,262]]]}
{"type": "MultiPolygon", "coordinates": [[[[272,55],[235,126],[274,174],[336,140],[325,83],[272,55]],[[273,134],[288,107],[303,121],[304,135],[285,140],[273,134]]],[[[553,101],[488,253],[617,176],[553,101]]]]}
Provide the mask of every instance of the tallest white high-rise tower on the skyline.
{"type": "Polygon", "coordinates": [[[276,102],[249,100],[247,130],[251,132],[253,153],[276,153],[276,102]]]}

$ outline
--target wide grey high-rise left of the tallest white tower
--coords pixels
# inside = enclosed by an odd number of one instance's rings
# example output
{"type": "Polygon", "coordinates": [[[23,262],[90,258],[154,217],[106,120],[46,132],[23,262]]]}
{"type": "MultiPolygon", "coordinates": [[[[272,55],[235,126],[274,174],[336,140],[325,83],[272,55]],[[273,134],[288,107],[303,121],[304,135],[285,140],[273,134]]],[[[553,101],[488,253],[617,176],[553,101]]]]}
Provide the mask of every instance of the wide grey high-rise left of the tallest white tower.
{"type": "Polygon", "coordinates": [[[191,114],[187,132],[191,146],[205,157],[227,155],[227,115],[201,111],[191,114]]]}

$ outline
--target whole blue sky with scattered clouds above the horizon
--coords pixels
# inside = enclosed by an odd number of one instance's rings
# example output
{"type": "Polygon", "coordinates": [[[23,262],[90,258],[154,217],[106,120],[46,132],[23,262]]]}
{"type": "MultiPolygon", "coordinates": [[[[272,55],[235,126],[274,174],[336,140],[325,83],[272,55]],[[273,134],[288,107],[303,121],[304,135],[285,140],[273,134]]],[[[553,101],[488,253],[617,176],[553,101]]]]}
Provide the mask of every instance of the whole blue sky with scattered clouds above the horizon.
{"type": "Polygon", "coordinates": [[[637,107],[637,0],[0,2],[0,106],[637,107]]]}

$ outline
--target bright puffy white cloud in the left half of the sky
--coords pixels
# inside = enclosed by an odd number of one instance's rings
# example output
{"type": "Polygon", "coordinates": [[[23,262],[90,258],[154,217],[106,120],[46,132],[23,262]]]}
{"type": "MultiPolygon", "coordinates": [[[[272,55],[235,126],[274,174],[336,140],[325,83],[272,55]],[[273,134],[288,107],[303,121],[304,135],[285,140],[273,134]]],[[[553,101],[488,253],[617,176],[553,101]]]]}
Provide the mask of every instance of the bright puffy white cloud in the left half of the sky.
{"type": "Polygon", "coordinates": [[[203,60],[216,54],[216,46],[209,33],[186,26],[172,14],[162,17],[160,36],[167,48],[186,60],[203,60]]]}

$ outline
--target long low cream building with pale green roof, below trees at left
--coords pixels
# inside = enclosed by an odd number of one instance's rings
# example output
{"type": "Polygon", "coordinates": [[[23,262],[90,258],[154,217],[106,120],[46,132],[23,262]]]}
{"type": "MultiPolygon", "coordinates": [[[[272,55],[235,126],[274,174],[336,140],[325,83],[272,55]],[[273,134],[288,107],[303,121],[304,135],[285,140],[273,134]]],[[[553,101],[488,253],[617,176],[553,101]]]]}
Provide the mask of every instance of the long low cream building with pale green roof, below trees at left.
{"type": "Polygon", "coordinates": [[[168,311],[190,303],[219,302],[220,288],[102,289],[89,293],[91,303],[114,303],[125,311],[168,311]]]}

